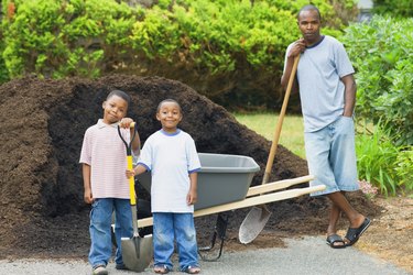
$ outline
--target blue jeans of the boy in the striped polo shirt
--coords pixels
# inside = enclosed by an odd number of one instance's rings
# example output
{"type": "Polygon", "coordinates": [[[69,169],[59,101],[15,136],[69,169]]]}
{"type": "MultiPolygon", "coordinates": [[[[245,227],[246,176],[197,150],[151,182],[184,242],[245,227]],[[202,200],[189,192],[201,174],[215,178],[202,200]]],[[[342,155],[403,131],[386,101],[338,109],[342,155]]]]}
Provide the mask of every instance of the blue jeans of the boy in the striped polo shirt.
{"type": "Polygon", "coordinates": [[[132,238],[132,211],[129,199],[101,198],[95,199],[90,210],[90,252],[91,266],[107,265],[112,254],[111,221],[115,211],[115,234],[118,244],[115,262],[123,264],[121,238],[132,238]]]}

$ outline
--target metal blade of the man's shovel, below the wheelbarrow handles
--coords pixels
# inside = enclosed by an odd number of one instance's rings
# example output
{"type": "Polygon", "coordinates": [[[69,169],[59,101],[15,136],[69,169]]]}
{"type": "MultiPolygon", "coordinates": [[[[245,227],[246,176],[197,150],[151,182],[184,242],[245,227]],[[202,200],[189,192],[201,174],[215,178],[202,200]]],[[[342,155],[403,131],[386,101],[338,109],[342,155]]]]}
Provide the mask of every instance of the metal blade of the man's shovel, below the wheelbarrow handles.
{"type": "Polygon", "coordinates": [[[239,241],[244,244],[252,242],[265,227],[270,216],[271,211],[265,205],[252,207],[239,229],[239,241]]]}

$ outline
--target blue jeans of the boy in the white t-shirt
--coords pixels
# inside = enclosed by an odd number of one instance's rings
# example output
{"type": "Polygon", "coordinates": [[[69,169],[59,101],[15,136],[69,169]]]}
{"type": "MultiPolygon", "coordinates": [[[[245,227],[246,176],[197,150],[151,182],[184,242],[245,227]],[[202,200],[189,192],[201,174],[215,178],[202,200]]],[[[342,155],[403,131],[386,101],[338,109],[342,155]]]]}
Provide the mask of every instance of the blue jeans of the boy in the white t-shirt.
{"type": "Polygon", "coordinates": [[[166,265],[172,270],[171,256],[176,239],[180,268],[198,266],[198,246],[193,213],[153,213],[154,265],[166,265]]]}

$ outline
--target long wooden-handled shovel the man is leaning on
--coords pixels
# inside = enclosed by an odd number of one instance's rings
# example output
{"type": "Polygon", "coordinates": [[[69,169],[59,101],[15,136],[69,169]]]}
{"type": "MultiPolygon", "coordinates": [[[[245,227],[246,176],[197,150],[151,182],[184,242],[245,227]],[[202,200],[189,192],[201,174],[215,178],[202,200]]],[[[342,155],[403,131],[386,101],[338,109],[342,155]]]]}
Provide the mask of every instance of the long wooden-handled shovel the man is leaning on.
{"type": "MultiPolygon", "coordinates": [[[[262,183],[261,183],[262,185],[267,184],[270,179],[272,164],[274,162],[276,146],[280,140],[281,128],[283,124],[283,120],[284,120],[285,109],[289,103],[289,98],[290,98],[291,89],[293,87],[293,81],[295,77],[295,72],[298,66],[298,61],[300,61],[300,55],[297,55],[294,58],[294,65],[291,70],[289,85],[286,87],[286,91],[284,96],[284,101],[283,101],[280,117],[275,127],[274,139],[271,143],[270,155],[267,161],[265,173],[262,177],[262,183]]],[[[239,241],[241,243],[252,242],[258,237],[258,234],[262,231],[262,229],[265,227],[268,220],[270,219],[270,216],[271,216],[271,211],[268,209],[267,205],[252,207],[250,212],[247,215],[246,219],[242,221],[241,227],[239,228],[239,234],[238,234],[239,241]]]]}

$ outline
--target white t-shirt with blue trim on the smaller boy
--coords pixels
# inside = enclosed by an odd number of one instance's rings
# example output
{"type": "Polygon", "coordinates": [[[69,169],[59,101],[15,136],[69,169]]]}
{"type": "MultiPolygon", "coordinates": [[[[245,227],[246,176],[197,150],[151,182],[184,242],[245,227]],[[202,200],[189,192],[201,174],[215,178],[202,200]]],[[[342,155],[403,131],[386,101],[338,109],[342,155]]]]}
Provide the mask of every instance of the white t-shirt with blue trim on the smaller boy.
{"type": "Polygon", "coordinates": [[[152,174],[152,212],[194,212],[186,204],[189,174],[200,169],[195,142],[182,130],[170,134],[163,130],[145,141],[138,165],[152,174]]]}

